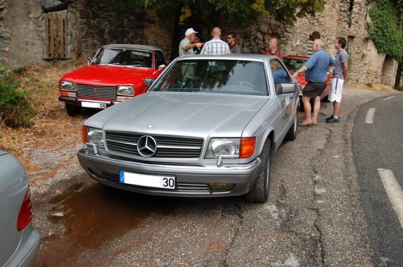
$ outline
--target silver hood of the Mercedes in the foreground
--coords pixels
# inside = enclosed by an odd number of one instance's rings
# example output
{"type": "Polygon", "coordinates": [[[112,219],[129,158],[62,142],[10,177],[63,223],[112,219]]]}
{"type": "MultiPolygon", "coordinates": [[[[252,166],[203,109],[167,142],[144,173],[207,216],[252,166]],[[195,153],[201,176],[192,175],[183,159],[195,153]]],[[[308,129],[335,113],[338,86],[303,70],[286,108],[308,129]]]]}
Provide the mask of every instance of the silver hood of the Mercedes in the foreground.
{"type": "Polygon", "coordinates": [[[241,137],[245,126],[268,99],[268,96],[149,92],[94,115],[86,124],[104,130],[148,134],[241,137]]]}

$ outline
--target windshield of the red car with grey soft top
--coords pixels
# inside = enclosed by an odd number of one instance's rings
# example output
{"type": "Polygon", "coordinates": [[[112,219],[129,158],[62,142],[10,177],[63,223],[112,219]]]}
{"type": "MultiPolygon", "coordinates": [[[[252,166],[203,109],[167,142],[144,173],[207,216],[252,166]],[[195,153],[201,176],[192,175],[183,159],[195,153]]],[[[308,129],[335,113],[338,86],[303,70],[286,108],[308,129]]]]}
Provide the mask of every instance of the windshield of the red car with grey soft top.
{"type": "Polygon", "coordinates": [[[152,68],[152,52],[123,48],[102,48],[95,56],[92,64],[152,68]]]}

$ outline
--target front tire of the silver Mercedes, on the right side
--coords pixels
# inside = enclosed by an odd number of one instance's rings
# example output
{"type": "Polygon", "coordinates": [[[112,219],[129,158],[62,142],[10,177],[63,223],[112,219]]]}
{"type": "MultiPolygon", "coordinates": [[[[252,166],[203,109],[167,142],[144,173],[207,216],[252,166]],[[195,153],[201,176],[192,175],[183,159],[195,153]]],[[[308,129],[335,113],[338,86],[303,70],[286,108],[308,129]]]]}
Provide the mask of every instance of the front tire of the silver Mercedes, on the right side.
{"type": "Polygon", "coordinates": [[[259,174],[253,185],[252,189],[246,193],[245,197],[247,201],[254,203],[265,203],[269,198],[269,186],[270,186],[270,140],[266,140],[263,146],[260,159],[262,164],[259,168],[259,174]]]}

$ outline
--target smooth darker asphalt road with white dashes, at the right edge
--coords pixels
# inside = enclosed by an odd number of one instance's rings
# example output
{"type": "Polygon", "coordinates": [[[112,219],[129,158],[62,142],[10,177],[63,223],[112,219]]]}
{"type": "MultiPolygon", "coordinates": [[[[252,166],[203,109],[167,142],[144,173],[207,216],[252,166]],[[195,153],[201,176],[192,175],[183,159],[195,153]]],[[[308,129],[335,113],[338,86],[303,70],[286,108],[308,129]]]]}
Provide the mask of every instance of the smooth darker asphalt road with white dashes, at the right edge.
{"type": "Polygon", "coordinates": [[[403,225],[378,172],[392,171],[403,187],[402,94],[377,98],[360,107],[355,118],[353,151],[370,236],[375,241],[376,264],[403,266],[403,225]],[[368,111],[373,109],[373,120],[367,118],[366,122],[368,111]]]}

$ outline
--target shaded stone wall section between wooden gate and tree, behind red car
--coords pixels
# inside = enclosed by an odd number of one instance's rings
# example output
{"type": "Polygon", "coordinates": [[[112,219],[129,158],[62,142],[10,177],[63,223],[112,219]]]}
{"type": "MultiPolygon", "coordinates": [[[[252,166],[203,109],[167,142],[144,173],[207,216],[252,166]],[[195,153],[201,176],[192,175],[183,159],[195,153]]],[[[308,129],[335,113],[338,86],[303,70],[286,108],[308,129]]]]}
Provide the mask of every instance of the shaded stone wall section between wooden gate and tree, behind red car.
{"type": "Polygon", "coordinates": [[[92,57],[102,45],[129,43],[154,45],[169,56],[173,21],[172,24],[161,22],[153,10],[130,8],[120,3],[75,0],[68,6],[70,54],[92,57]]]}

